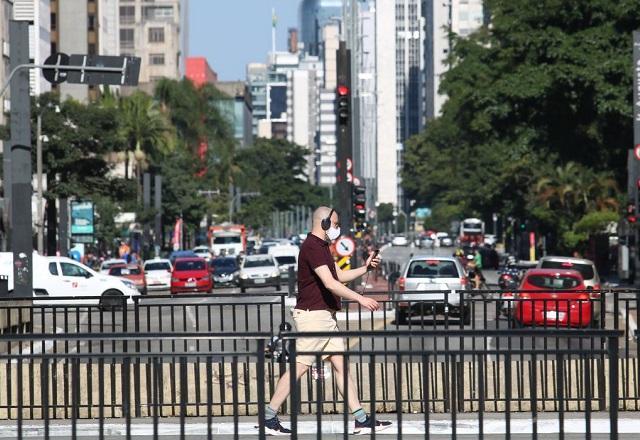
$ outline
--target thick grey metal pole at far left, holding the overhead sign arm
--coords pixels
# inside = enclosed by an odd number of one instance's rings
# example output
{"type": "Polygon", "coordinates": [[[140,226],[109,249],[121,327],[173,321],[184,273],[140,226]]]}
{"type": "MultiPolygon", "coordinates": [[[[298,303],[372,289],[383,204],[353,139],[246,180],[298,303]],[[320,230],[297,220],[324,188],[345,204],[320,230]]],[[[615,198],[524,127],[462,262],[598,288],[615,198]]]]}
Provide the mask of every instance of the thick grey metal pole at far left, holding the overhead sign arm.
{"type": "MultiPolygon", "coordinates": [[[[9,22],[11,66],[29,62],[29,22],[9,22]]],[[[31,98],[29,71],[20,70],[11,82],[11,250],[13,292],[33,296],[33,219],[31,216],[31,98]]],[[[6,152],[5,152],[6,155],[6,152]]],[[[6,187],[5,187],[6,188],[6,187]]]]}

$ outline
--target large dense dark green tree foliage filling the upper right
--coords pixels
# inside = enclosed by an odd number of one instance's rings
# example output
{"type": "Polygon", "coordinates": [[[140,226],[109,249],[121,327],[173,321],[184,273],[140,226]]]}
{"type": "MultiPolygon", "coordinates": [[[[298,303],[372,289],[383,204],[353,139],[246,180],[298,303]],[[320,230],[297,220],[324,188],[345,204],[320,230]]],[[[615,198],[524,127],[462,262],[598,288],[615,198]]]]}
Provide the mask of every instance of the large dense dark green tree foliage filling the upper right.
{"type": "Polygon", "coordinates": [[[454,36],[442,115],[405,146],[406,193],[455,206],[440,210],[443,223],[498,212],[575,243],[575,222],[614,210],[626,179],[640,9],[631,0],[486,6],[490,28],[454,36]]]}

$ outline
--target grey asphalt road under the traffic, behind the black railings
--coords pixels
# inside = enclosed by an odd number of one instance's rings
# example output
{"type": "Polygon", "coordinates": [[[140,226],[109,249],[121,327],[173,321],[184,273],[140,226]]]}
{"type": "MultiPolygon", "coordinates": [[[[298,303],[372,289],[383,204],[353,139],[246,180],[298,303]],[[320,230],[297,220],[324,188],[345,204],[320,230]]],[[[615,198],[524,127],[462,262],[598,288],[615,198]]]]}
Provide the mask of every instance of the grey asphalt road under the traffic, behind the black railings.
{"type": "MultiPolygon", "coordinates": [[[[403,264],[411,254],[433,254],[437,256],[450,256],[453,248],[418,249],[414,247],[385,247],[381,251],[382,258],[386,261],[394,261],[403,264]]],[[[485,271],[488,284],[493,288],[497,284],[497,273],[495,271],[485,271]]],[[[283,284],[286,288],[286,284],[283,284]]],[[[215,289],[213,294],[177,295],[171,296],[168,292],[154,293],[152,297],[142,298],[137,307],[127,310],[100,311],[87,307],[59,307],[57,309],[46,308],[33,315],[34,332],[36,333],[89,333],[108,334],[112,332],[202,332],[227,334],[242,332],[277,332],[280,323],[284,320],[292,322],[290,310],[295,304],[295,298],[286,298],[287,292],[280,291],[279,295],[274,294],[272,288],[249,289],[247,293],[241,294],[235,287],[215,289]],[[283,307],[284,305],[284,307],[283,307]]],[[[392,303],[386,303],[382,311],[374,314],[364,311],[353,311],[338,315],[340,327],[343,330],[383,330],[383,329],[508,329],[509,322],[505,317],[499,316],[495,298],[489,295],[486,299],[481,296],[472,298],[472,321],[469,325],[461,325],[457,317],[453,316],[445,319],[442,316],[428,315],[424,317],[414,317],[406,325],[398,325],[395,322],[395,311],[392,303]],[[498,318],[496,318],[498,316],[498,318]]],[[[635,311],[634,311],[635,312],[635,311]]],[[[619,327],[629,326],[634,329],[634,322],[627,322],[626,314],[619,317],[619,327]]],[[[629,318],[629,319],[632,319],[629,318]]],[[[614,328],[613,313],[606,314],[606,328],[614,328]]],[[[631,332],[629,332],[631,335],[631,332]]],[[[143,348],[148,350],[166,347],[166,341],[144,341],[143,348]]],[[[386,340],[371,338],[351,338],[349,346],[351,349],[386,349],[411,351],[419,350],[441,352],[444,350],[458,350],[470,348],[503,348],[511,344],[513,350],[539,348],[548,350],[550,348],[575,348],[579,350],[591,347],[583,339],[569,340],[541,339],[541,338],[451,338],[439,337],[403,337],[387,338],[386,340]],[[586,344],[586,345],[585,345],[586,344]]],[[[51,351],[55,350],[53,343],[38,343],[37,346],[28,346],[31,351],[51,351]],[[48,344],[48,345],[47,345],[48,344]]],[[[95,344],[94,344],[95,345],[95,344]]],[[[122,343],[111,344],[115,351],[122,347],[122,343]]],[[[203,349],[201,342],[182,342],[178,346],[183,346],[186,351],[198,352],[203,349]]],[[[596,344],[598,345],[598,344],[596,344]]],[[[171,342],[171,348],[175,349],[176,343],[171,342]]],[[[250,350],[254,347],[253,342],[244,343],[225,342],[223,340],[215,343],[207,343],[207,350],[250,350]]],[[[637,344],[633,337],[620,339],[620,347],[626,350],[631,356],[637,356],[637,344]]],[[[60,347],[62,349],[62,347],[60,347]]],[[[77,351],[84,351],[88,347],[87,343],[79,343],[77,351]]],[[[68,350],[68,344],[64,350],[68,350]]]]}

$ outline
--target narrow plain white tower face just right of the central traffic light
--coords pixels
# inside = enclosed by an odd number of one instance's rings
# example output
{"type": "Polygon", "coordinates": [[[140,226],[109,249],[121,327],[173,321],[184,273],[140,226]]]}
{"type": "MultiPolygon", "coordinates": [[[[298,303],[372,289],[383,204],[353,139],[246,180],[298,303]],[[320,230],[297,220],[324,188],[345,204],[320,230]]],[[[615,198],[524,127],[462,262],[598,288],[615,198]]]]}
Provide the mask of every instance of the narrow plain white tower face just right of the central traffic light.
{"type": "Polygon", "coordinates": [[[376,62],[376,202],[398,201],[397,93],[395,2],[377,1],[375,5],[376,62]]]}

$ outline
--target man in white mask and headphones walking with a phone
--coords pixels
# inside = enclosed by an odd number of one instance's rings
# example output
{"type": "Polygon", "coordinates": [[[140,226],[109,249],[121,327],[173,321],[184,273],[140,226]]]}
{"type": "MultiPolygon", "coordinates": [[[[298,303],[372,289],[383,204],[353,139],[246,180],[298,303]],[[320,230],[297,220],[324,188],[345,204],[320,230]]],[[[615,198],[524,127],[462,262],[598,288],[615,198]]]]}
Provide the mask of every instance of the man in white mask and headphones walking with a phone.
{"type": "MultiPolygon", "coordinates": [[[[371,311],[380,307],[377,301],[359,295],[343,284],[375,269],[380,264],[380,258],[374,258],[371,254],[364,266],[341,270],[329,250],[330,241],[339,236],[338,214],[326,206],[316,209],[313,213],[311,233],[302,244],[298,257],[298,299],[293,311],[293,320],[299,332],[339,331],[336,312],[340,310],[340,298],[356,301],[371,311]]],[[[313,353],[343,352],[345,345],[342,338],[301,338],[297,340],[296,350],[313,353]]],[[[296,357],[296,379],[300,379],[307,372],[314,360],[315,356],[312,355],[296,357]]],[[[347,383],[344,383],[344,370],[348,371],[349,366],[346,365],[343,355],[324,355],[322,360],[331,362],[340,393],[344,395],[344,390],[348,390],[347,404],[356,419],[354,434],[368,434],[391,425],[391,422],[380,420],[376,420],[374,425],[360,405],[351,374],[347,373],[347,383]]],[[[277,415],[278,408],[291,392],[290,374],[291,371],[287,371],[282,375],[271,396],[271,402],[266,407],[264,424],[268,434],[287,435],[291,432],[280,424],[277,415]]]]}

